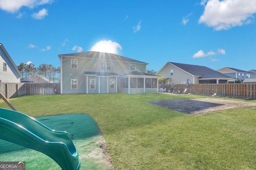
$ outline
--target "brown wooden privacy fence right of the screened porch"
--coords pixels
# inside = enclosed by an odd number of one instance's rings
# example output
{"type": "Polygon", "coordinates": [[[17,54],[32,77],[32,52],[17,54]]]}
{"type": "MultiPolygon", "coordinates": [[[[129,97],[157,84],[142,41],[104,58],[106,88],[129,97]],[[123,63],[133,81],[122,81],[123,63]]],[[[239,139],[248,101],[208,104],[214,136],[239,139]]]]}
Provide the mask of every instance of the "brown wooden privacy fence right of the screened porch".
{"type": "MultiPolygon", "coordinates": [[[[161,87],[161,84],[158,85],[161,87]]],[[[186,84],[164,84],[164,88],[186,89],[186,84]]],[[[256,97],[256,84],[189,84],[186,93],[212,96],[216,93],[221,97],[250,98],[256,97]]]]}

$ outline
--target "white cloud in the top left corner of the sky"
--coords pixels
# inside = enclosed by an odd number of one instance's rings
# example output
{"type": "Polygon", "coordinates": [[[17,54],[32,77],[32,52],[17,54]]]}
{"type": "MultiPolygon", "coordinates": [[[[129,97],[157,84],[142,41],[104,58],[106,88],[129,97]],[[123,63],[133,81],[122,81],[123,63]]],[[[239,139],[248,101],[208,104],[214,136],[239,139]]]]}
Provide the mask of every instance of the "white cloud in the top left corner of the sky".
{"type": "Polygon", "coordinates": [[[22,6],[34,8],[36,6],[51,4],[53,0],[0,0],[0,8],[4,11],[14,13],[22,6]]]}

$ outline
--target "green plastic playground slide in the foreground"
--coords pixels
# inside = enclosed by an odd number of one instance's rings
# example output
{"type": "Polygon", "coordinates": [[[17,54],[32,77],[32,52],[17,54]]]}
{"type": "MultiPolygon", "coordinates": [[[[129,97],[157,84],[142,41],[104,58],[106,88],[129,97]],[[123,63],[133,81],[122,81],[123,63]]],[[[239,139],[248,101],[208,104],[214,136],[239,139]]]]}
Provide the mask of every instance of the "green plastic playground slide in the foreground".
{"type": "Polygon", "coordinates": [[[0,139],[38,150],[57,162],[62,170],[81,167],[81,158],[67,132],[54,131],[18,111],[0,108],[0,139]]]}

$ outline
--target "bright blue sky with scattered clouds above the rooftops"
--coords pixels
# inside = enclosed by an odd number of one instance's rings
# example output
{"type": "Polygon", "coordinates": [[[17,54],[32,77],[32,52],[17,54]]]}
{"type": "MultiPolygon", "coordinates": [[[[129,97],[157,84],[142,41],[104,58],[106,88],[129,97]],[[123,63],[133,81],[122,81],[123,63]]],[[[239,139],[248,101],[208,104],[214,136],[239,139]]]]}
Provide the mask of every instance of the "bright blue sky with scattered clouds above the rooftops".
{"type": "Polygon", "coordinates": [[[256,69],[255,0],[0,0],[0,43],[16,65],[103,51],[149,63],[256,69]]]}

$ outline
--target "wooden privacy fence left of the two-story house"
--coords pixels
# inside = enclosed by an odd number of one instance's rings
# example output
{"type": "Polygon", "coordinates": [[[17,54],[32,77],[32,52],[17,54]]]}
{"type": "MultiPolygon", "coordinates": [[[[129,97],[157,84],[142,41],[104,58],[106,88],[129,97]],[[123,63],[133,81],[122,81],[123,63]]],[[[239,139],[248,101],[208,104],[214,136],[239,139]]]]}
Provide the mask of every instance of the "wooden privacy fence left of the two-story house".
{"type": "Polygon", "coordinates": [[[60,94],[60,83],[0,82],[0,92],[7,99],[25,95],[60,94]]]}

